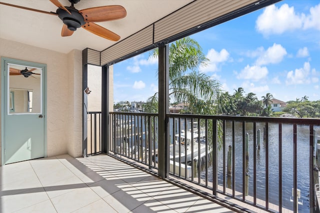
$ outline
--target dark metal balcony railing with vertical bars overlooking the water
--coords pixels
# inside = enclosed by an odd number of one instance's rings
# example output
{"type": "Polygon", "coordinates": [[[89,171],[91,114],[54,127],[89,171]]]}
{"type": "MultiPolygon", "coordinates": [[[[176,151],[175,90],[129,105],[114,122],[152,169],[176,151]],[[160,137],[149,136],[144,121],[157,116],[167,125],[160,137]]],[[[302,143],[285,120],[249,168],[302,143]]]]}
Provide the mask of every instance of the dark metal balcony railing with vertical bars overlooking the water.
{"type": "MultiPolygon", "coordinates": [[[[98,130],[95,116],[92,126],[98,130]]],[[[268,212],[318,211],[319,119],[183,114],[166,119],[170,176],[268,212]]],[[[108,122],[111,154],[158,169],[157,114],[111,112],[108,122]]],[[[100,143],[97,135],[91,136],[92,153],[101,147],[94,145],[100,143]]]]}

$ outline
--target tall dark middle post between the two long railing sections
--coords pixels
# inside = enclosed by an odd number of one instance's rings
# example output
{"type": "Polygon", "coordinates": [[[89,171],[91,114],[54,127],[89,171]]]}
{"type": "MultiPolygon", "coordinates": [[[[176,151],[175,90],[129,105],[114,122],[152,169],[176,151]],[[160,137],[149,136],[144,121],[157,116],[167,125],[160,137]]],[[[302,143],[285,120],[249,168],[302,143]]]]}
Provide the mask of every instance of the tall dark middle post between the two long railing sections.
{"type": "Polygon", "coordinates": [[[160,178],[168,177],[168,113],[169,104],[169,46],[160,43],[158,46],[158,174],[160,178]]]}

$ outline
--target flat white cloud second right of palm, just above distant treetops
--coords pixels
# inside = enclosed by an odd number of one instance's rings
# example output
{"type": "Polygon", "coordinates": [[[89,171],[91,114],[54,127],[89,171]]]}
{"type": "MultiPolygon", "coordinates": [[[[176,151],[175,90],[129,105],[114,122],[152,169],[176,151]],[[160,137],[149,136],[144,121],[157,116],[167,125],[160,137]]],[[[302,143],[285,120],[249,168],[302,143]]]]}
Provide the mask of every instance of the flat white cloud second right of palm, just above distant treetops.
{"type": "Polygon", "coordinates": [[[266,67],[246,65],[246,67],[244,67],[244,69],[241,70],[241,72],[236,76],[236,78],[258,81],[260,79],[265,78],[267,74],[268,69],[266,67]]]}

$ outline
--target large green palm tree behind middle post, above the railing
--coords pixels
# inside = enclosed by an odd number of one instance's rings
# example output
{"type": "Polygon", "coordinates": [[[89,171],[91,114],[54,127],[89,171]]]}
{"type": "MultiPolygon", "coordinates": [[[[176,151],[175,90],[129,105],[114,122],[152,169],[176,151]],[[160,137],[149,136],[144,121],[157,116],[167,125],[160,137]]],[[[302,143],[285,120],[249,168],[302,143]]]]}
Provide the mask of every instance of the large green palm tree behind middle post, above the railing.
{"type": "MultiPolygon", "coordinates": [[[[154,50],[152,57],[157,57],[154,50]]],[[[187,103],[188,111],[194,114],[212,114],[212,102],[219,93],[219,84],[205,73],[200,73],[199,65],[205,66],[208,59],[200,45],[190,37],[170,44],[169,47],[169,97],[179,103],[187,103]]],[[[157,112],[157,93],[147,100],[146,112],[157,112]],[[156,104],[155,104],[156,102],[156,104]]]]}

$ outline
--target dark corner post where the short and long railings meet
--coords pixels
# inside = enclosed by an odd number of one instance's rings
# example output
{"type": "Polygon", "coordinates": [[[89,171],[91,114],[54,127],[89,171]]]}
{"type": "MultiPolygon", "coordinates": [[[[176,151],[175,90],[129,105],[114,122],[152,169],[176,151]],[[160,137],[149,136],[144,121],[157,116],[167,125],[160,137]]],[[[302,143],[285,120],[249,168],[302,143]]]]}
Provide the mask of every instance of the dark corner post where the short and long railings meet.
{"type": "Polygon", "coordinates": [[[109,66],[102,66],[101,72],[101,152],[109,154],[109,66]]]}

